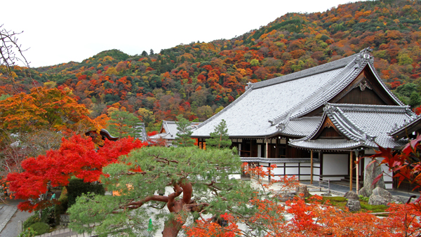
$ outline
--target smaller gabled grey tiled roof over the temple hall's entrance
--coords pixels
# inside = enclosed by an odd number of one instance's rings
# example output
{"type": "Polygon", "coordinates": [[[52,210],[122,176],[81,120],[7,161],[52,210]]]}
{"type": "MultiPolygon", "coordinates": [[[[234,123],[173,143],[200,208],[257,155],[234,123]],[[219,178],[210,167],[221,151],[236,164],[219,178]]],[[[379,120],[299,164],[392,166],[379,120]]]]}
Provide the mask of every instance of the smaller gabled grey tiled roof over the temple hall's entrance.
{"type": "Polygon", "coordinates": [[[413,121],[416,115],[408,106],[366,105],[366,104],[330,104],[323,109],[323,118],[318,128],[310,135],[299,140],[290,140],[290,145],[305,149],[352,149],[356,147],[399,148],[408,141],[395,141],[390,131],[396,126],[402,126],[407,121],[413,121]],[[318,139],[322,124],[330,119],[333,126],[340,132],[342,139],[318,139]]]}

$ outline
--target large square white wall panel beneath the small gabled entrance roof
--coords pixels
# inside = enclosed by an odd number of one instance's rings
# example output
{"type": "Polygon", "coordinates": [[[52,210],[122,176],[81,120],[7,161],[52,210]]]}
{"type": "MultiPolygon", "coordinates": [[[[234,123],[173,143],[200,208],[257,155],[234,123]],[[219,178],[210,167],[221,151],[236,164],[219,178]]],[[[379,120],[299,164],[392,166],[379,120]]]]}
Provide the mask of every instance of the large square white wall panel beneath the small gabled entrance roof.
{"type": "Polygon", "coordinates": [[[323,177],[323,180],[342,180],[348,175],[348,154],[323,154],[323,175],[338,175],[323,177]]]}

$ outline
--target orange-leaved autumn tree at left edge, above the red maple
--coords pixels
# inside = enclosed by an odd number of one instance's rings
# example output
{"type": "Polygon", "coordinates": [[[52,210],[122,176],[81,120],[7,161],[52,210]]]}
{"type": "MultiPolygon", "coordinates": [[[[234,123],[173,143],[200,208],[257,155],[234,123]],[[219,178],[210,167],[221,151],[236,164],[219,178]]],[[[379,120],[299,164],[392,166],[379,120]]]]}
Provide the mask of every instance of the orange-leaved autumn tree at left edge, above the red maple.
{"type": "Polygon", "coordinates": [[[80,130],[98,130],[88,117],[88,109],[67,93],[56,88],[32,88],[31,93],[20,93],[0,100],[0,128],[11,133],[25,133],[51,129],[64,133],[80,130]]]}

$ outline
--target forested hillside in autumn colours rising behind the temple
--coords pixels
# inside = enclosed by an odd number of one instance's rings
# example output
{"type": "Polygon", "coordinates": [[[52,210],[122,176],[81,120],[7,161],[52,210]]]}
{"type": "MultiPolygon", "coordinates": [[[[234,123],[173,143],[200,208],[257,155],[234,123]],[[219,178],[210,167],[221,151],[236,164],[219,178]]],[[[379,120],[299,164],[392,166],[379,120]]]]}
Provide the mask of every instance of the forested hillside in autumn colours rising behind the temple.
{"type": "MultiPolygon", "coordinates": [[[[370,47],[382,79],[417,108],[420,19],[419,1],[361,1],[323,13],[288,13],[234,39],[139,55],[107,50],[80,63],[30,72],[40,86],[68,90],[86,105],[91,118],[114,107],[139,116],[153,130],[162,119],[174,120],[178,114],[206,120],[239,97],[249,81],[298,72],[370,47]]],[[[29,91],[34,83],[28,71],[15,67],[14,88],[0,82],[0,95],[29,91]]]]}

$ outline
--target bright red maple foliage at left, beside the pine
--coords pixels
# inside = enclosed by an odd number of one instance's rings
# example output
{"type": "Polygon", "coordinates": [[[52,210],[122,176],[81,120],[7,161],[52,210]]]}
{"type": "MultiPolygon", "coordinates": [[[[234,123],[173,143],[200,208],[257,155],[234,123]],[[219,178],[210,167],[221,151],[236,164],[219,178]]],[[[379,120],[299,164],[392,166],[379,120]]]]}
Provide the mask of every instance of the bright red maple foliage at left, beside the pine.
{"type": "Polygon", "coordinates": [[[105,165],[115,163],[119,156],[145,145],[145,142],[128,137],[116,142],[105,140],[104,146],[96,151],[91,137],[74,135],[69,139],[62,138],[60,149],[25,159],[22,161],[25,171],[11,173],[7,180],[15,198],[28,200],[20,203],[18,208],[36,210],[45,204],[36,202],[36,199],[46,193],[48,186],[66,186],[72,176],[84,182],[98,181],[105,165]]]}

